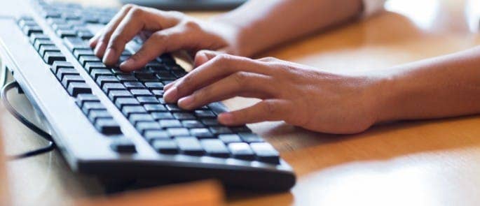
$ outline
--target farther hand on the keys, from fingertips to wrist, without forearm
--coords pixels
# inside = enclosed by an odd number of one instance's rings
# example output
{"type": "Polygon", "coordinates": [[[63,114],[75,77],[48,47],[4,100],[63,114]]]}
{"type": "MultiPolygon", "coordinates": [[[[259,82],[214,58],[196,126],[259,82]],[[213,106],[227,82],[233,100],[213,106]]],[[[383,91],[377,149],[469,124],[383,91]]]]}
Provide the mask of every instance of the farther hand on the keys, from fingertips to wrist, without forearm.
{"type": "Polygon", "coordinates": [[[176,11],[129,4],[90,40],[90,46],[104,64],[114,65],[132,38],[149,34],[140,50],[120,64],[123,71],[132,71],[160,54],[176,50],[223,50],[234,54],[236,32],[231,24],[204,22],[176,11]]]}

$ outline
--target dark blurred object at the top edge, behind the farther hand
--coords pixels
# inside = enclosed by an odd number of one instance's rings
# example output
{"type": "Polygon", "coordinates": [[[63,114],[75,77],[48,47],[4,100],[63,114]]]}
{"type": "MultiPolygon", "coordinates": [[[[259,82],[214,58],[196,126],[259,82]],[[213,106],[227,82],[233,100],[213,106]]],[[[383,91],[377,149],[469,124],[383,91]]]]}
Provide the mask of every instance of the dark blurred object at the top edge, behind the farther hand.
{"type": "Polygon", "coordinates": [[[233,9],[247,0],[121,0],[162,10],[226,10],[233,9]]]}

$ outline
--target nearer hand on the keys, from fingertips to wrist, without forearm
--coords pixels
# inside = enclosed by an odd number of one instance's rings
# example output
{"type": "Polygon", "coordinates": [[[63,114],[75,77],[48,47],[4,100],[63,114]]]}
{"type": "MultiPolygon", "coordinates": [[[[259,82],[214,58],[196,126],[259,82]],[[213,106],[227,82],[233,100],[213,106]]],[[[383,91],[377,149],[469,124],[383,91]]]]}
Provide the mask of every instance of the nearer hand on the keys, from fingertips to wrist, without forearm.
{"type": "Polygon", "coordinates": [[[284,120],[325,133],[359,133],[376,122],[377,78],[341,75],[274,58],[198,52],[195,70],[165,87],[165,101],[191,110],[234,96],[261,98],[224,112],[228,126],[284,120]]]}

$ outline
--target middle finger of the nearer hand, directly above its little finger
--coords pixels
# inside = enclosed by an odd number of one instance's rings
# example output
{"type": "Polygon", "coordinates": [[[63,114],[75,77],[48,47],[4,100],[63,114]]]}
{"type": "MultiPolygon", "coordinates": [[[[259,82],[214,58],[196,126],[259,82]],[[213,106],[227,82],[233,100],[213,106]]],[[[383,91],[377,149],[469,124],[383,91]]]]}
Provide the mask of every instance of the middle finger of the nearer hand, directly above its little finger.
{"type": "Polygon", "coordinates": [[[269,76],[256,73],[238,72],[214,82],[207,87],[193,92],[190,96],[180,98],[180,108],[191,110],[216,101],[222,101],[234,96],[245,94],[253,98],[269,98],[277,93],[275,88],[270,87],[272,82],[269,76]]]}

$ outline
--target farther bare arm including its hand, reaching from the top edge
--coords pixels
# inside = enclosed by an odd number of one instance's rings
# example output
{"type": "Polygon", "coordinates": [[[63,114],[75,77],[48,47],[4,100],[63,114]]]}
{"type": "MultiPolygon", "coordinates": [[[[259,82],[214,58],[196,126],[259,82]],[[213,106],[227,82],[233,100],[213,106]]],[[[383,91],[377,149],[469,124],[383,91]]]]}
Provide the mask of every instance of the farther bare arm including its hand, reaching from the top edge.
{"type": "Polygon", "coordinates": [[[134,36],[151,33],[142,48],[120,65],[131,71],[164,52],[221,50],[251,56],[359,15],[361,0],[252,0],[225,15],[202,21],[183,13],[127,5],[90,40],[105,64],[118,63],[134,36]]]}

